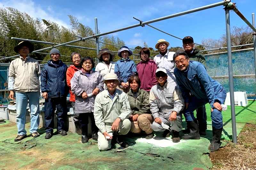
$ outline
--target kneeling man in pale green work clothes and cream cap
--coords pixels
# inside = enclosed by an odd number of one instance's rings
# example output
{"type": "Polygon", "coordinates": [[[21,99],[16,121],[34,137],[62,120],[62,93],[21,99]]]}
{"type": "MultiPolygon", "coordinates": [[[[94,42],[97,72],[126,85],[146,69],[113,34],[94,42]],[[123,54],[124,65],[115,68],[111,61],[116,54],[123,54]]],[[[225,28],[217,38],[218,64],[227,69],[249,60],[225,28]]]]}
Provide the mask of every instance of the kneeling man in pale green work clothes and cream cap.
{"type": "Polygon", "coordinates": [[[94,119],[99,128],[98,147],[100,151],[110,149],[115,132],[116,142],[127,148],[124,135],[130,131],[131,122],[128,118],[132,112],[128,97],[124,92],[116,89],[120,82],[115,73],[108,73],[104,77],[104,83],[107,89],[96,96],[94,103],[94,119]]]}

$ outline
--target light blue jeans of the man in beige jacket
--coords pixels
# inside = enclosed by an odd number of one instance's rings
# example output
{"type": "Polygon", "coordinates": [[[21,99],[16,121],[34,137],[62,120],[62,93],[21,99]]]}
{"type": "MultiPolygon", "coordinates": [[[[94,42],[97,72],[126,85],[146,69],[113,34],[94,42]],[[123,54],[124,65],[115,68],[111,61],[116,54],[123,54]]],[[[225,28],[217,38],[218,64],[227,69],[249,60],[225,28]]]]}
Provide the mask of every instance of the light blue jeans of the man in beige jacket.
{"type": "Polygon", "coordinates": [[[25,130],[26,122],[26,110],[29,103],[29,108],[31,111],[31,124],[30,133],[37,132],[39,125],[39,92],[16,92],[16,123],[18,128],[18,135],[26,135],[25,130]],[[28,101],[29,100],[29,101],[28,101]]]}

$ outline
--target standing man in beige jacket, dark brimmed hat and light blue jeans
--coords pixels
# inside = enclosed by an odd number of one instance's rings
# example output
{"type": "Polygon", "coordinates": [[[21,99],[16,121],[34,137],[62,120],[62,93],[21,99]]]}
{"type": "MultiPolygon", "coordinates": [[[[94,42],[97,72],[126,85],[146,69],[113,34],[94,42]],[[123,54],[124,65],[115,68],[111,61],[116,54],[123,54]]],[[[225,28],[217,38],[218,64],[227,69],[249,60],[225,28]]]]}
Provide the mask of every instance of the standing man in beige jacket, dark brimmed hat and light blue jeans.
{"type": "Polygon", "coordinates": [[[15,100],[16,92],[16,123],[18,136],[14,141],[20,141],[27,137],[25,130],[26,109],[29,103],[31,110],[31,125],[29,132],[32,137],[39,137],[39,91],[40,91],[40,66],[38,61],[29,57],[29,53],[34,50],[34,46],[29,41],[21,41],[14,51],[20,53],[19,58],[12,60],[9,67],[8,89],[10,98],[15,100]]]}

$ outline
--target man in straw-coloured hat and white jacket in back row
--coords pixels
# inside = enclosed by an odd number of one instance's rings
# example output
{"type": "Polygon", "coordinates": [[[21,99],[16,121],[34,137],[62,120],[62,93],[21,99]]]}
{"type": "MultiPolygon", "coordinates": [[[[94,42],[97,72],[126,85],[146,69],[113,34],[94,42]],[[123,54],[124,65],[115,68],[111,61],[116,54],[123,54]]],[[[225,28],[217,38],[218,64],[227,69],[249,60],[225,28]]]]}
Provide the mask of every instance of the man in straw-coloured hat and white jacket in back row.
{"type": "Polygon", "coordinates": [[[156,62],[157,68],[163,68],[166,70],[168,78],[167,81],[173,85],[176,85],[176,79],[174,76],[174,67],[175,63],[173,61],[173,54],[175,52],[171,52],[167,50],[169,46],[169,42],[165,41],[164,39],[160,39],[156,43],[156,49],[159,50],[159,54],[154,57],[154,62],[156,62]]]}

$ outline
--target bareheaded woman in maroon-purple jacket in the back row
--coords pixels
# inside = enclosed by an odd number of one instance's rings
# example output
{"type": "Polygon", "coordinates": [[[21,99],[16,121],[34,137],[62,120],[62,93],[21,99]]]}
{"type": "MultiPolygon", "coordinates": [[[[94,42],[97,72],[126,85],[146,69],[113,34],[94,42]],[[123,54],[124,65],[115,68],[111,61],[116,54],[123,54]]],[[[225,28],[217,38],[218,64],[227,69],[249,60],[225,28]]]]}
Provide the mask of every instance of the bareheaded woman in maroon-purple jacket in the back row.
{"type": "Polygon", "coordinates": [[[140,63],[137,65],[137,71],[141,80],[140,88],[149,92],[153,85],[157,84],[156,81],[156,63],[149,58],[150,52],[148,48],[141,48],[140,50],[140,63]]]}

